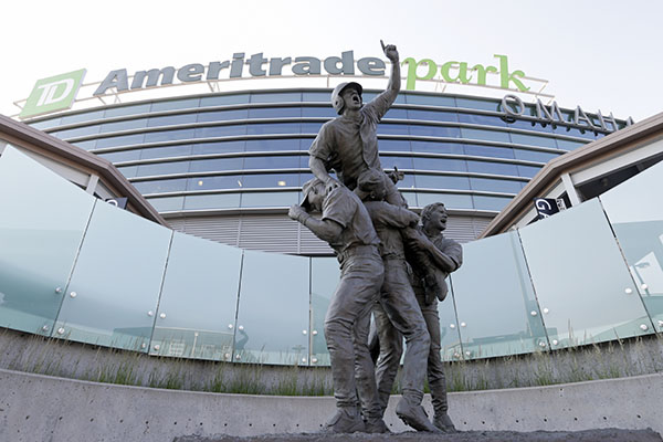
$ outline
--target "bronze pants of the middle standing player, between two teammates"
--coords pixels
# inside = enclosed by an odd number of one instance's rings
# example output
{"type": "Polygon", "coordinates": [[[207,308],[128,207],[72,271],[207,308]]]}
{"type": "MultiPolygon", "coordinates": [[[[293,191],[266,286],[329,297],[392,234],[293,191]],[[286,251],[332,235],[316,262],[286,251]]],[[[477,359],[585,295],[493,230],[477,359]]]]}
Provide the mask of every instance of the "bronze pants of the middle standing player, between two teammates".
{"type": "Polygon", "coordinates": [[[387,409],[402,354],[402,336],[406,337],[407,349],[401,389],[403,397],[418,406],[423,399],[431,339],[410,285],[404,260],[385,260],[385,283],[373,314],[380,339],[380,358],[376,368],[380,408],[382,412],[387,409]]]}

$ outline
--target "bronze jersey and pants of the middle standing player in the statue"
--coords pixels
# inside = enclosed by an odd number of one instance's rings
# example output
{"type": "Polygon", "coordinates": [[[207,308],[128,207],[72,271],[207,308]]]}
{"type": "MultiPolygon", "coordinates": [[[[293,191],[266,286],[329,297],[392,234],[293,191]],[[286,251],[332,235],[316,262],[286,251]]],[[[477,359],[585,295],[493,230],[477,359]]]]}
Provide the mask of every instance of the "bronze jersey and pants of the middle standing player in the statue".
{"type": "MultiPolygon", "coordinates": [[[[423,399],[423,380],[429,357],[430,337],[425,320],[421,314],[417,297],[410,284],[403,240],[399,229],[418,221],[417,214],[409,210],[382,201],[366,201],[381,245],[385,262],[385,283],[373,316],[380,339],[380,349],[388,350],[382,343],[397,339],[402,347],[401,334],[406,337],[407,349],[403,361],[401,389],[403,397],[412,404],[423,399]],[[398,330],[400,333],[393,333],[398,330]]],[[[382,412],[387,409],[389,394],[400,362],[400,354],[390,351],[380,354],[376,369],[378,394],[382,412]]]]}

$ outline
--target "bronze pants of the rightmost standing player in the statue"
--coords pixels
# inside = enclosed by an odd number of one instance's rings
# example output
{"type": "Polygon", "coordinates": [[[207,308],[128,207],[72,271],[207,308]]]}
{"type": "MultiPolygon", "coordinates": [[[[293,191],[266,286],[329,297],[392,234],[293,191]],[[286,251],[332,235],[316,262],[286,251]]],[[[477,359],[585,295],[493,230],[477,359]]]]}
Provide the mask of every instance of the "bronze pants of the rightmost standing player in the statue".
{"type": "MultiPolygon", "coordinates": [[[[444,365],[442,364],[442,357],[440,355],[441,335],[440,315],[438,313],[438,299],[433,299],[433,302],[430,305],[425,305],[423,293],[418,293],[417,303],[421,308],[421,314],[423,316],[423,319],[425,320],[425,325],[430,335],[430,351],[428,354],[427,373],[429,387],[431,389],[433,410],[435,412],[435,415],[440,415],[446,412],[449,406],[446,402],[446,378],[444,377],[444,365]]],[[[398,372],[400,358],[403,352],[403,344],[400,333],[391,325],[391,323],[389,323],[387,315],[383,312],[380,312],[378,308],[376,308],[373,314],[376,316],[376,325],[378,326],[378,333],[380,338],[380,361],[378,362],[377,368],[378,389],[380,394],[380,402],[381,404],[383,403],[383,407],[387,407],[389,393],[391,392],[393,380],[398,372]],[[385,319],[378,319],[379,316],[381,316],[385,319]],[[380,330],[380,323],[383,323],[381,327],[382,330],[380,330]],[[386,335],[385,338],[382,338],[382,334],[386,335]]],[[[403,372],[403,381],[406,372],[403,372]]],[[[404,392],[406,391],[403,385],[403,394],[404,392]]]]}

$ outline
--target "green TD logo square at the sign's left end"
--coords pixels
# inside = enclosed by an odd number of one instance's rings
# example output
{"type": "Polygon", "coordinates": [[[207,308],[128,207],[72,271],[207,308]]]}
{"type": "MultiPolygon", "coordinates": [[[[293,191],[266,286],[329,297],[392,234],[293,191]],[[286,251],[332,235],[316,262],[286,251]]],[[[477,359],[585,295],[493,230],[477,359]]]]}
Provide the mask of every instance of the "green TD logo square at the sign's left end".
{"type": "Polygon", "coordinates": [[[19,117],[28,118],[72,107],[85,72],[80,70],[39,80],[19,117]]]}

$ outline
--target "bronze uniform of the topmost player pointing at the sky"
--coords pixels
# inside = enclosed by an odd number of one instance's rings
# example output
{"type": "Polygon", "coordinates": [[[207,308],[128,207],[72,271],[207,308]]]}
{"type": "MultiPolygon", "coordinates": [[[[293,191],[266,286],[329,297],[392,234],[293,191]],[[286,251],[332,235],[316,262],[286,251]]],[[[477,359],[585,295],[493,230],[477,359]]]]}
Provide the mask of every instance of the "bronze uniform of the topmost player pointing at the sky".
{"type": "MultiPolygon", "coordinates": [[[[319,158],[327,170],[334,169],[338,179],[350,190],[368,169],[382,170],[378,157],[378,123],[393,103],[398,92],[387,90],[359,109],[355,117],[340,116],[327,122],[311,145],[308,154],[319,158]]],[[[393,182],[385,175],[388,202],[401,204],[393,182]]]]}

